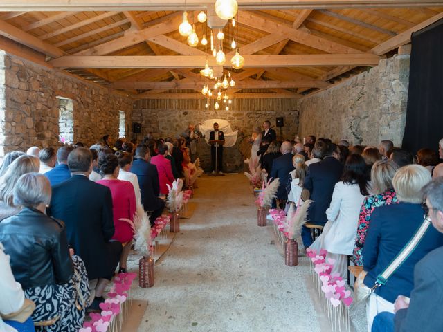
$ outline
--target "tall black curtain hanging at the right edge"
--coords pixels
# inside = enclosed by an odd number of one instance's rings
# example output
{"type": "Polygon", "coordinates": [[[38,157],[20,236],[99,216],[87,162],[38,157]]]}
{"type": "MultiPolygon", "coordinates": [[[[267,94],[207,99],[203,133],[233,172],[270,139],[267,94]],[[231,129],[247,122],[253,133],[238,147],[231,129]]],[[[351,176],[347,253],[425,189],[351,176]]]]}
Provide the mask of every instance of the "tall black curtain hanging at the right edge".
{"type": "Polygon", "coordinates": [[[403,147],[438,149],[443,138],[443,19],[411,38],[408,108],[403,147]]]}

